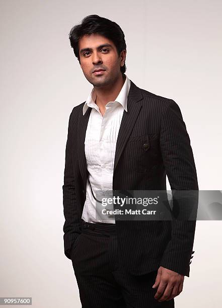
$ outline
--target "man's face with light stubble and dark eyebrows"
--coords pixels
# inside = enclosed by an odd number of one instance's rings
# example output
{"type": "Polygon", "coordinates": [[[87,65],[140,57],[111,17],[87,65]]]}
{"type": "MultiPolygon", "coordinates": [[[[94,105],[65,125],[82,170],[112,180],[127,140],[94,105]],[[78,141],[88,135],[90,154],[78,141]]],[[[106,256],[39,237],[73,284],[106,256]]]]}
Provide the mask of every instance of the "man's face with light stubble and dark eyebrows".
{"type": "Polygon", "coordinates": [[[120,66],[125,62],[126,51],[118,56],[112,41],[99,34],[83,36],[79,41],[80,66],[86,79],[96,87],[114,83],[122,74],[120,66]],[[94,72],[95,69],[103,69],[94,72]]]}

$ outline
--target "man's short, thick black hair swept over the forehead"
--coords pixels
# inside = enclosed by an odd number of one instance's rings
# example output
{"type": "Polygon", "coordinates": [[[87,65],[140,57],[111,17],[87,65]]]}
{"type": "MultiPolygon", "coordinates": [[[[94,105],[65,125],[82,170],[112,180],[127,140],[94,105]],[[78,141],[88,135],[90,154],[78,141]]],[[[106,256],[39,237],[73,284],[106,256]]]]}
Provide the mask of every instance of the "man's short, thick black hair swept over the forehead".
{"type": "MultiPolygon", "coordinates": [[[[70,45],[80,62],[79,41],[84,35],[99,34],[111,40],[116,46],[117,53],[120,55],[122,50],[126,50],[125,35],[115,22],[100,17],[98,15],[89,15],[82,20],[80,25],[71,28],[69,32],[70,45]]],[[[126,71],[126,65],[120,67],[122,74],[126,71]]]]}

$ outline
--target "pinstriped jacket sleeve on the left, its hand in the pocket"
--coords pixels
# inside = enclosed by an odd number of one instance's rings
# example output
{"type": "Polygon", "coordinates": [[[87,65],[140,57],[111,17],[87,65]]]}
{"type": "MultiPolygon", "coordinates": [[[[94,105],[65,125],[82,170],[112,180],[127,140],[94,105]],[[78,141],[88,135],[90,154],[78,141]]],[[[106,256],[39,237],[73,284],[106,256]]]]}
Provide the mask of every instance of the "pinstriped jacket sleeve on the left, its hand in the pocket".
{"type": "Polygon", "coordinates": [[[81,233],[80,213],[76,201],[75,168],[78,164],[77,153],[77,108],[73,108],[68,121],[68,135],[65,148],[65,169],[63,190],[63,225],[64,254],[68,259],[72,244],[81,233]]]}

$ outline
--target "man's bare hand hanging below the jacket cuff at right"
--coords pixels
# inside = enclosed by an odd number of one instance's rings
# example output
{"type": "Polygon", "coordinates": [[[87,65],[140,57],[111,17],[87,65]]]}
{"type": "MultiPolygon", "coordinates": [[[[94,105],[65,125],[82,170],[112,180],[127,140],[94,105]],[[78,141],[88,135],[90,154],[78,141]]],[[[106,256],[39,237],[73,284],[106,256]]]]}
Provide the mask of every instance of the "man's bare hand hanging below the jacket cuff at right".
{"type": "Polygon", "coordinates": [[[153,288],[157,288],[155,298],[158,301],[171,300],[183,290],[184,275],[160,266],[153,288]]]}

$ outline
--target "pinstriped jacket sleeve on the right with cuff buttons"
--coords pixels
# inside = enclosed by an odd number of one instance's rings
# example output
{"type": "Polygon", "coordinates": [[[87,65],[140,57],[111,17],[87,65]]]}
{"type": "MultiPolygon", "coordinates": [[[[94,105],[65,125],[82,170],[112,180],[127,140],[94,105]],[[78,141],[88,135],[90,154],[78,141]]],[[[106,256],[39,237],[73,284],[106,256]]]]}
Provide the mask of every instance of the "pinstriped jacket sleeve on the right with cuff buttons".
{"type": "MultiPolygon", "coordinates": [[[[160,146],[171,190],[196,190],[198,183],[190,138],[179,106],[169,100],[162,115],[160,146]]],[[[185,205],[185,204],[184,204],[185,205]]],[[[173,200],[174,212],[177,202],[173,200]]],[[[189,277],[196,220],[172,220],[171,240],[160,266],[189,277]]]]}

